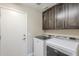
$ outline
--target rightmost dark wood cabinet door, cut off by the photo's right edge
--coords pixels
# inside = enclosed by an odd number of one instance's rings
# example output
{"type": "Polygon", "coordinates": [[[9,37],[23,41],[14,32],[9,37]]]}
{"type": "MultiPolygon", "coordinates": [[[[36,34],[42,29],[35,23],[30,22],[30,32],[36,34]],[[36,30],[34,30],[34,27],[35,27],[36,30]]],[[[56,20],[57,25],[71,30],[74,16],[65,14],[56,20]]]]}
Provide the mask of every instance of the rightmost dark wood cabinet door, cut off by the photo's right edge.
{"type": "Polygon", "coordinates": [[[78,29],[79,28],[79,4],[66,4],[66,20],[65,28],[78,29]]]}

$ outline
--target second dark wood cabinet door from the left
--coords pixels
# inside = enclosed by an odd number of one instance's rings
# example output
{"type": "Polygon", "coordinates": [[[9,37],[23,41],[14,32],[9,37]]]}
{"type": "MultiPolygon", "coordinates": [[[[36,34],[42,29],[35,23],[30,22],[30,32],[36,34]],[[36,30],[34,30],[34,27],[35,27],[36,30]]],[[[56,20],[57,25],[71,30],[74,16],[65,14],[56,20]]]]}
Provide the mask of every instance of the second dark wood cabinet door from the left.
{"type": "Polygon", "coordinates": [[[49,29],[55,29],[55,8],[49,9],[49,29]]]}

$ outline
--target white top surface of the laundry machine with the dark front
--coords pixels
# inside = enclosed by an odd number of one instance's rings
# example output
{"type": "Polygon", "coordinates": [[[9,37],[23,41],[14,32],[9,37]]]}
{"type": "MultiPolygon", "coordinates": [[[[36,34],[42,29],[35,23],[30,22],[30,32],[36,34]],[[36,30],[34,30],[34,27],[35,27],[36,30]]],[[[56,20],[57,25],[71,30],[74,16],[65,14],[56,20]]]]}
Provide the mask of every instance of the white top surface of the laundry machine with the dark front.
{"type": "Polygon", "coordinates": [[[67,39],[57,39],[52,38],[46,41],[47,45],[58,47],[62,50],[69,51],[71,53],[76,53],[79,47],[79,42],[67,39]]]}

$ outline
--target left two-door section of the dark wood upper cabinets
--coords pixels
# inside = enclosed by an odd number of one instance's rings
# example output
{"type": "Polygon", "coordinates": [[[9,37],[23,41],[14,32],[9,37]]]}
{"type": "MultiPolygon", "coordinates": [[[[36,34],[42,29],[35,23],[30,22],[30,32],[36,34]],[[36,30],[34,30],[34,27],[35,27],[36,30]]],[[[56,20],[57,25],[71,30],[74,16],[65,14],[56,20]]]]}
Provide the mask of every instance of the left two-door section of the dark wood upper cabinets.
{"type": "Polygon", "coordinates": [[[43,12],[43,29],[55,29],[55,8],[43,12]]]}

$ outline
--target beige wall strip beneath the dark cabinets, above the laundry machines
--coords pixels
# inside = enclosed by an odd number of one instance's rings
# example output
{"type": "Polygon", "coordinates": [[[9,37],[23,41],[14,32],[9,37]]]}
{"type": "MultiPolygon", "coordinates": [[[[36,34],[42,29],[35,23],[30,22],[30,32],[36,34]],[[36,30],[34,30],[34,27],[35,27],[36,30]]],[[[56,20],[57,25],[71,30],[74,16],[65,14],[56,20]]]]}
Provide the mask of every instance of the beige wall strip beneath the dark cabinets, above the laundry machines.
{"type": "Polygon", "coordinates": [[[79,38],[79,29],[47,30],[45,33],[79,38]]]}

